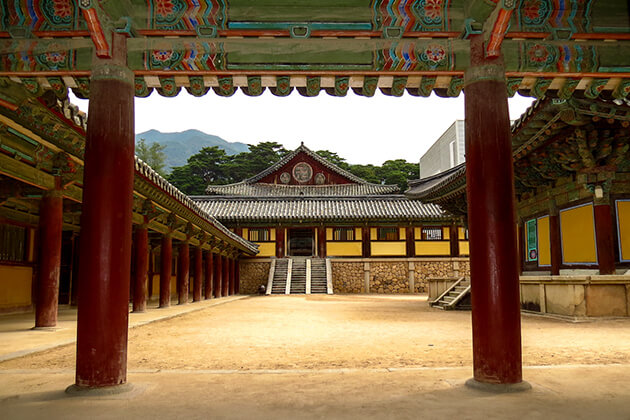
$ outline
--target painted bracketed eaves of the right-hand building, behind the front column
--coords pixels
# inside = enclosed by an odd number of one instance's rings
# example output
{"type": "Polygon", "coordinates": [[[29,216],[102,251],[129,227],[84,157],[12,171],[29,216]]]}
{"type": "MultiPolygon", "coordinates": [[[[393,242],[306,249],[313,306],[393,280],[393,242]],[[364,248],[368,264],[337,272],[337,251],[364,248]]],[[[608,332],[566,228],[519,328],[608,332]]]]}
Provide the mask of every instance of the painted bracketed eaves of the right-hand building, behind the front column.
{"type": "MultiPolygon", "coordinates": [[[[588,185],[630,173],[630,104],[620,100],[543,98],[512,125],[518,198],[561,178],[588,185]]],[[[465,163],[410,182],[409,198],[466,214],[465,163]],[[455,210],[455,208],[457,210],[455,210]]]]}

